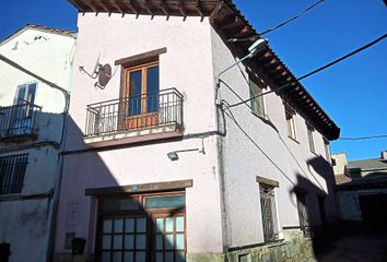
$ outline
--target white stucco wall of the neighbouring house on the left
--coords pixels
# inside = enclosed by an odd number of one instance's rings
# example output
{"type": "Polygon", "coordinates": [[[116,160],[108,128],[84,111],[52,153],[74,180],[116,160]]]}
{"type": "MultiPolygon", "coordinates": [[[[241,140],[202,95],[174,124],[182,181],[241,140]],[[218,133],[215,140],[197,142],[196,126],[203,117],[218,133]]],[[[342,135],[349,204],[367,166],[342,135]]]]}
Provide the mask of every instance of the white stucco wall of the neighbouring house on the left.
{"type": "MultiPolygon", "coordinates": [[[[31,72],[70,91],[75,39],[40,29],[24,28],[0,43],[0,53],[31,72]]],[[[17,86],[37,83],[34,104],[36,139],[0,142],[0,157],[28,154],[20,194],[0,195],[0,242],[11,243],[10,262],[45,261],[55,183],[60,172],[64,97],[61,92],[0,61],[0,106],[14,104],[17,86]],[[33,245],[32,245],[33,243],[33,245]]]]}

